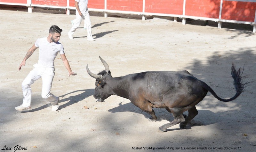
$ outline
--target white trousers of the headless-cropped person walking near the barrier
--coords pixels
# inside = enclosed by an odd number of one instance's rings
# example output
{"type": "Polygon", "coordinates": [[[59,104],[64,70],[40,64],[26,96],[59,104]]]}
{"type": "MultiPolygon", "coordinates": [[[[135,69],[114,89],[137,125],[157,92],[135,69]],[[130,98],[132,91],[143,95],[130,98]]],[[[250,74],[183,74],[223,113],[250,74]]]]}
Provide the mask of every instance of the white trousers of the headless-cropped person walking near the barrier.
{"type": "Polygon", "coordinates": [[[71,35],[73,35],[75,33],[76,29],[80,26],[82,20],[84,20],[84,23],[87,26],[87,38],[92,38],[92,23],[91,23],[89,11],[84,13],[82,16],[80,16],[79,14],[76,14],[76,19],[74,19],[72,21],[73,26],[70,29],[69,33],[71,35]]]}

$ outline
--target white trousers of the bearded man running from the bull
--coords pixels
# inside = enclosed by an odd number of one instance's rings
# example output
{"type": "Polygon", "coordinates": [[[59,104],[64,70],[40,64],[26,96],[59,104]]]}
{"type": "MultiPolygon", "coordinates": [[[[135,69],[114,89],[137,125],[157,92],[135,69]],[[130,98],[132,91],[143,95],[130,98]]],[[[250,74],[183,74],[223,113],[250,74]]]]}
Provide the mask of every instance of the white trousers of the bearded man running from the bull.
{"type": "Polygon", "coordinates": [[[38,64],[34,65],[34,69],[31,70],[25,80],[22,82],[22,91],[23,91],[23,103],[24,107],[31,106],[31,96],[32,90],[30,85],[33,84],[36,80],[42,77],[42,98],[48,100],[52,105],[58,103],[58,97],[55,97],[50,93],[52,89],[52,80],[55,75],[54,68],[43,68],[38,64]]]}

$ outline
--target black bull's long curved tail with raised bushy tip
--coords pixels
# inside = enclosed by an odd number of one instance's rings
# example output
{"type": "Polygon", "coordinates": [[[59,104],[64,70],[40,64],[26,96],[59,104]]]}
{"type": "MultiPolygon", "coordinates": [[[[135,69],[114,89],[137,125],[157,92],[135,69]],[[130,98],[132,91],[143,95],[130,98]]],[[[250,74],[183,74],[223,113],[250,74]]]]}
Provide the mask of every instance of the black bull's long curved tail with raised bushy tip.
{"type": "Polygon", "coordinates": [[[234,87],[236,89],[236,94],[234,97],[232,98],[229,98],[229,99],[222,99],[220,98],[219,96],[217,96],[217,94],[212,90],[212,88],[207,85],[206,83],[204,83],[203,87],[204,89],[208,90],[209,92],[212,93],[212,95],[217,98],[218,100],[220,101],[223,101],[223,102],[228,102],[228,101],[232,101],[234,99],[236,99],[243,91],[244,91],[244,88],[246,87],[245,85],[248,84],[248,83],[251,83],[251,82],[246,82],[246,83],[243,83],[242,82],[242,79],[243,78],[247,78],[247,76],[242,76],[243,74],[243,71],[244,69],[242,68],[239,68],[237,71],[236,71],[236,66],[234,65],[234,63],[232,63],[232,67],[231,67],[231,75],[234,79],[234,87]]]}

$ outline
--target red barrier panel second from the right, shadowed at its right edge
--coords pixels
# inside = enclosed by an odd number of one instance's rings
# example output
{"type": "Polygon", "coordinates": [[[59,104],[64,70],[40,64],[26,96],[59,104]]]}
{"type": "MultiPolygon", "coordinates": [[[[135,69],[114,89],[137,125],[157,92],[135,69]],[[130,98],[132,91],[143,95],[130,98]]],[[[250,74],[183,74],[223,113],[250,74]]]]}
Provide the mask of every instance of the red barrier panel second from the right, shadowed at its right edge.
{"type": "Polygon", "coordinates": [[[185,15],[219,18],[220,0],[186,0],[185,15]]]}

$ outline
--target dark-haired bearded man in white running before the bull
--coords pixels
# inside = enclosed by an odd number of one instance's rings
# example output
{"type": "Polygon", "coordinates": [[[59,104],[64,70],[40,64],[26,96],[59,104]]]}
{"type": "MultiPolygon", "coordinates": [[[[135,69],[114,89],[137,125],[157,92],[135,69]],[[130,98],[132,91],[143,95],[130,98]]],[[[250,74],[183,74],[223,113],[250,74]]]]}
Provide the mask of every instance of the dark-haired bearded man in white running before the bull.
{"type": "Polygon", "coordinates": [[[34,65],[25,80],[22,82],[23,91],[23,103],[20,106],[15,107],[18,111],[30,110],[31,109],[31,87],[36,80],[42,77],[42,98],[45,98],[52,104],[52,111],[56,111],[59,108],[59,97],[54,96],[50,93],[52,89],[52,80],[55,75],[54,70],[54,60],[57,54],[60,52],[60,57],[68,70],[68,76],[76,75],[72,72],[66,55],[64,53],[64,48],[60,42],[60,29],[57,25],[52,25],[49,29],[48,37],[39,38],[36,43],[28,50],[25,58],[20,63],[19,70],[22,66],[25,66],[28,58],[39,48],[39,59],[38,63],[34,65]]]}

